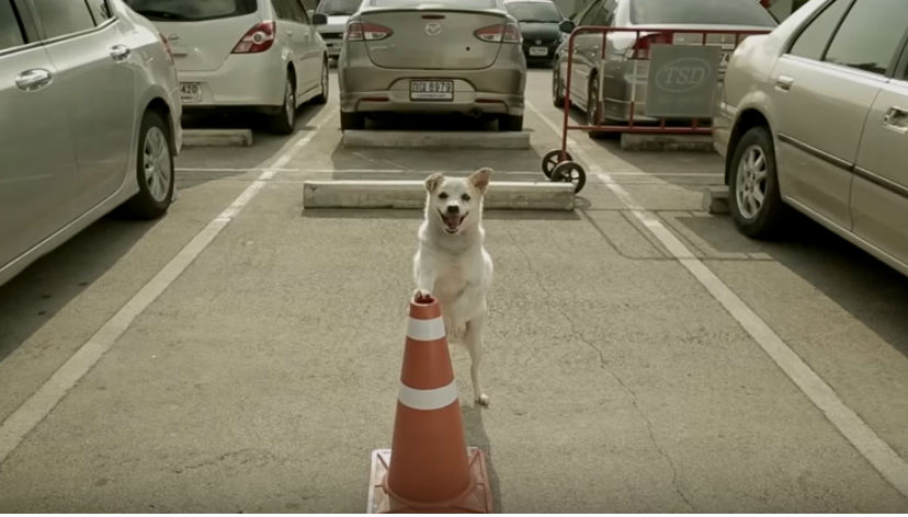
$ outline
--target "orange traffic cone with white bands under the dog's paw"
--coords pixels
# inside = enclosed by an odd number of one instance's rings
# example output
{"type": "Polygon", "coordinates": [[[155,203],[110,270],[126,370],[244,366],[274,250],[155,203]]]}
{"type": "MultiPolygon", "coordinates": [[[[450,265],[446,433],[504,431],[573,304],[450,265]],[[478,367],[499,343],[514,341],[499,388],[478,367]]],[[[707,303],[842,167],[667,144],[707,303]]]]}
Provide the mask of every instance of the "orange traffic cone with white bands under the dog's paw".
{"type": "Polygon", "coordinates": [[[483,451],[467,449],[444,321],[410,302],[391,449],[372,453],[368,513],[491,513],[483,451]]]}

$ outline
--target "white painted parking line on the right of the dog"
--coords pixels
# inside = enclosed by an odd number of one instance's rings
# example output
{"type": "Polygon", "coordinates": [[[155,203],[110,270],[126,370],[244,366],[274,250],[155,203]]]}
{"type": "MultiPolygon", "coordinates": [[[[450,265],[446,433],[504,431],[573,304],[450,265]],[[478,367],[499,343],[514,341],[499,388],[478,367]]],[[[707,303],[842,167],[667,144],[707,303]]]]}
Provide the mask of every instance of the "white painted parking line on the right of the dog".
{"type": "MultiPolygon", "coordinates": [[[[531,103],[527,102],[526,106],[535,112],[556,135],[560,135],[561,127],[559,125],[543,115],[531,103]]],[[[583,162],[584,168],[589,171],[588,174],[595,174],[631,209],[631,212],[666,246],[674,258],[753,337],[763,352],[779,365],[782,371],[810,399],[814,405],[826,414],[829,422],[839,429],[842,436],[858,449],[873,468],[903,495],[908,496],[908,462],[879,438],[851,407],[845,405],[832,388],[809,365],[804,363],[731,288],[700,262],[688,246],[662,225],[652,211],[638,204],[627,191],[615,183],[611,174],[598,168],[595,161],[574,139],[568,138],[568,145],[575,156],[583,162]]]]}

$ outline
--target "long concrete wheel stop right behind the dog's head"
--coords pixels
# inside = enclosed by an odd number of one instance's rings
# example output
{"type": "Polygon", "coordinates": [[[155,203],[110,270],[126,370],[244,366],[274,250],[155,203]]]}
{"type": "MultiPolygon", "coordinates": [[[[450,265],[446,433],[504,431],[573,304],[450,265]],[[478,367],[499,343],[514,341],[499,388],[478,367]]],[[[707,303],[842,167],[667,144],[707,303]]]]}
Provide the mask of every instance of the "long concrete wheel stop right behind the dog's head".
{"type": "MultiPolygon", "coordinates": [[[[485,208],[490,210],[574,210],[574,185],[551,182],[491,182],[485,208]]],[[[422,181],[307,181],[303,207],[421,209],[422,181]]]]}

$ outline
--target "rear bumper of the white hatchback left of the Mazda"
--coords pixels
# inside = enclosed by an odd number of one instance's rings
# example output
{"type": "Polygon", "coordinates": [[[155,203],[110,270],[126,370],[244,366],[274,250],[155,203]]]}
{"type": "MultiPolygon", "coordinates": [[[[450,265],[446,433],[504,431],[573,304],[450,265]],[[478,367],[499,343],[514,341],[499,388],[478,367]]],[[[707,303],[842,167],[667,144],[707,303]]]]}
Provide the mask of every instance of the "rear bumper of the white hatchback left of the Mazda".
{"type": "Polygon", "coordinates": [[[179,72],[180,82],[197,82],[198,102],[183,100],[184,111],[215,106],[281,106],[286,65],[273,51],[230,55],[217,70],[179,72]]]}

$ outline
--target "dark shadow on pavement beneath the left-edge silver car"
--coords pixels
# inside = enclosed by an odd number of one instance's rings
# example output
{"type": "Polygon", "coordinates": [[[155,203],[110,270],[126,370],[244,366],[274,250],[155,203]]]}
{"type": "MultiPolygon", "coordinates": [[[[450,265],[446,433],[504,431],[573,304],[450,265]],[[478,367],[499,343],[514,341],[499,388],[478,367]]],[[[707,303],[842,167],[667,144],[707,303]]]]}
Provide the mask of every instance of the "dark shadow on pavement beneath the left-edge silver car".
{"type": "Polygon", "coordinates": [[[0,286],[0,360],[104,275],[158,222],[114,210],[0,286]]]}

